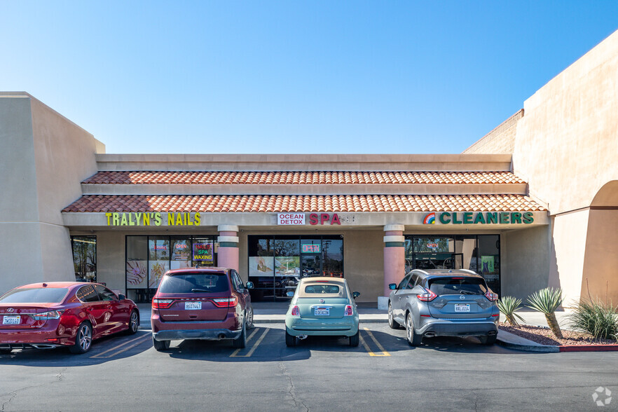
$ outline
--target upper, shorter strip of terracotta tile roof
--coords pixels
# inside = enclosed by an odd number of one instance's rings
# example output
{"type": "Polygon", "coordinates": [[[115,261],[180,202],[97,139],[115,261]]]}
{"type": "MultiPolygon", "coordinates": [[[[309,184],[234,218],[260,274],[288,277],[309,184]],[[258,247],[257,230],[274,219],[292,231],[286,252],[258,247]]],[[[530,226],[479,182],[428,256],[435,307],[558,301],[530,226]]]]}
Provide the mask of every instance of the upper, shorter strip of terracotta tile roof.
{"type": "Polygon", "coordinates": [[[522,184],[511,172],[98,172],[84,184],[522,184]]]}

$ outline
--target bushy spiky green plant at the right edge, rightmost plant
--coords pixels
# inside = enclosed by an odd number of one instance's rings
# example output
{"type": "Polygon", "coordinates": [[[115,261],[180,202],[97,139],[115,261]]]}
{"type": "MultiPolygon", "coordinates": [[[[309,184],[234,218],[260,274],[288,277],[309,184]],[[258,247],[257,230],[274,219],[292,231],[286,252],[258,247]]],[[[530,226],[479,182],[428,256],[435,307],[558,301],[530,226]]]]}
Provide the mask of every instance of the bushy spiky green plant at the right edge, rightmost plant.
{"type": "Polygon", "coordinates": [[[618,308],[600,301],[580,301],[569,315],[573,329],[591,334],[595,339],[618,340],[618,308]]]}

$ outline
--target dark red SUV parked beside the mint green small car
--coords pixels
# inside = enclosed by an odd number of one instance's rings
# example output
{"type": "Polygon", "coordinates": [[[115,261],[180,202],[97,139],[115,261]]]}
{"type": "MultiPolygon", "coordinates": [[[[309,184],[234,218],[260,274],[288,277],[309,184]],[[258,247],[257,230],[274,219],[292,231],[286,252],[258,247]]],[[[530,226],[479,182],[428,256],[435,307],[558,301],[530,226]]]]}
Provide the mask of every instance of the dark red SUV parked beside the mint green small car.
{"type": "Polygon", "coordinates": [[[253,327],[252,287],[229,268],[169,270],[152,300],[154,348],[166,350],[183,339],[231,339],[234,348],[245,348],[253,327]]]}

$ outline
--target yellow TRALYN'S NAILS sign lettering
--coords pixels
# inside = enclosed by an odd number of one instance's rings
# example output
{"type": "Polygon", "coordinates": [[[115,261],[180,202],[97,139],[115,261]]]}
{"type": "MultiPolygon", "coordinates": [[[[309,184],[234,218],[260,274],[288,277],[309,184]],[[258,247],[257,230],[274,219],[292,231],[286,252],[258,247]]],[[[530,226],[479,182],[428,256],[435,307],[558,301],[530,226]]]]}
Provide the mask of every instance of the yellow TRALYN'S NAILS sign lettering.
{"type": "Polygon", "coordinates": [[[107,212],[107,226],[200,226],[200,212],[107,212]]]}

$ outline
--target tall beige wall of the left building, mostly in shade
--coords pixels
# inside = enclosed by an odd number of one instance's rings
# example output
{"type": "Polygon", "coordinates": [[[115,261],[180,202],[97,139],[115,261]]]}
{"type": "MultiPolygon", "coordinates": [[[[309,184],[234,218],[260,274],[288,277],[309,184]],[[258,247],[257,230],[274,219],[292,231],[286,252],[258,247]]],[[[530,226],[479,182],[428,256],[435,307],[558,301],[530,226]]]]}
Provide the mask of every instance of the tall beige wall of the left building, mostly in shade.
{"type": "Polygon", "coordinates": [[[75,280],[60,210],[81,196],[104,146],[24,92],[0,92],[0,292],[75,280]]]}

